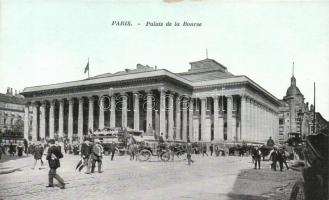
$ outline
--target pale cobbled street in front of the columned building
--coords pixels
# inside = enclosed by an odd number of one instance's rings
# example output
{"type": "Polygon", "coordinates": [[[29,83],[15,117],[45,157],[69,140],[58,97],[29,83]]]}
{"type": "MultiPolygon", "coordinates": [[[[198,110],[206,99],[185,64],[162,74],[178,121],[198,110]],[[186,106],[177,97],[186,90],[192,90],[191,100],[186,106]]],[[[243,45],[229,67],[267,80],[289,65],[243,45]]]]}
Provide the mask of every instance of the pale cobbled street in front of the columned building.
{"type": "MultiPolygon", "coordinates": [[[[1,161],[0,199],[289,199],[299,174],[291,170],[271,171],[269,162],[254,170],[250,157],[202,157],[195,163],[185,160],[161,162],[129,161],[128,156],[104,156],[103,173],[75,171],[80,157],[65,155],[58,174],[66,189],[46,188],[48,163],[31,169],[33,157],[1,161]]],[[[37,165],[39,166],[39,165],[37,165]]],[[[55,183],[56,180],[55,180],[55,183]]]]}

